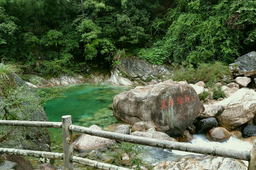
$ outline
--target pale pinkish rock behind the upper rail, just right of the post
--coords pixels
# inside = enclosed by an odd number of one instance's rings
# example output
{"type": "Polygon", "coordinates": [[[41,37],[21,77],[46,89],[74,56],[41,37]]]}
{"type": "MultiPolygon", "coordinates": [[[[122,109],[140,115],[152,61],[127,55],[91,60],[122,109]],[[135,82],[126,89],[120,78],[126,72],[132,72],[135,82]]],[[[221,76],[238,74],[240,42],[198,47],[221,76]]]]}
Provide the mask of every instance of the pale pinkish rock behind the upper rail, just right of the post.
{"type": "MultiPolygon", "coordinates": [[[[97,125],[92,125],[89,128],[102,130],[97,125]]],[[[103,137],[96,137],[86,134],[81,134],[75,142],[73,142],[74,149],[94,149],[103,145],[107,145],[111,140],[103,137]]]]}

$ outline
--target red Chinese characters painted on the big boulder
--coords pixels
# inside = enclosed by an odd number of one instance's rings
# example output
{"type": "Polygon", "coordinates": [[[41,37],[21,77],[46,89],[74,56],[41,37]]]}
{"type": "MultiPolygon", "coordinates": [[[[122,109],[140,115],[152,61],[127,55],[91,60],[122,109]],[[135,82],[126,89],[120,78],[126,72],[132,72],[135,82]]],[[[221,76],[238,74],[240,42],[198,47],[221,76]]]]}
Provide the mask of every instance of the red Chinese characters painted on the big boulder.
{"type": "MultiPolygon", "coordinates": [[[[185,103],[189,103],[190,101],[193,101],[193,102],[196,101],[196,97],[195,97],[195,96],[192,96],[192,99],[191,99],[191,97],[190,97],[188,94],[185,94],[184,99],[185,99],[185,103]]],[[[168,104],[166,104],[167,101],[166,101],[166,99],[164,99],[164,100],[162,100],[162,107],[161,107],[161,109],[163,109],[163,108],[165,108],[165,107],[167,107],[167,106],[173,107],[174,104],[183,105],[183,104],[184,104],[184,103],[183,103],[183,102],[184,102],[184,99],[183,99],[183,97],[180,95],[180,96],[177,97],[177,100],[176,100],[176,103],[175,103],[174,98],[169,97],[169,99],[168,99],[168,104]]]]}

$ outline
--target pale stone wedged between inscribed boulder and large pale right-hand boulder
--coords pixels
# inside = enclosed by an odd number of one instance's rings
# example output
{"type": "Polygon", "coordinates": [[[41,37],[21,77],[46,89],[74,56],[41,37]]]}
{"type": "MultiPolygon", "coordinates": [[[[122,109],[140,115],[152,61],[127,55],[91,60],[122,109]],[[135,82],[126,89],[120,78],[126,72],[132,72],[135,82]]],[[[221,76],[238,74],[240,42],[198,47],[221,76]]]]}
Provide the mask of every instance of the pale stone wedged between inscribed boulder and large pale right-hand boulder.
{"type": "Polygon", "coordinates": [[[204,108],[204,112],[199,116],[201,118],[217,117],[225,110],[222,105],[204,105],[204,108]]]}

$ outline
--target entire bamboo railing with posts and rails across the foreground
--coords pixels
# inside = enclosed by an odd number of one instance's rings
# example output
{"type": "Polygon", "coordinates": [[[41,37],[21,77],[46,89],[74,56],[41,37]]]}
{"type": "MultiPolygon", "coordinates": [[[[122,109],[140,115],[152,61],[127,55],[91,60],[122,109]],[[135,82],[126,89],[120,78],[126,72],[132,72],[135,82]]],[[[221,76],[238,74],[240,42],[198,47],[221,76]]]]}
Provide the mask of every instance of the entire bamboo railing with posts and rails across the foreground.
{"type": "Polygon", "coordinates": [[[0,120],[0,126],[23,126],[23,127],[44,127],[44,128],[62,128],[63,153],[40,152],[18,149],[0,148],[0,153],[27,155],[40,158],[63,159],[64,170],[72,170],[73,162],[86,166],[95,167],[103,170],[128,170],[124,167],[109,165],[90,159],[84,159],[73,156],[72,132],[83,133],[87,135],[103,137],[118,141],[124,141],[134,144],[142,144],[164,149],[173,149],[185,152],[200,153],[205,155],[220,156],[225,158],[234,158],[249,161],[248,170],[256,169],[256,139],[251,151],[241,151],[236,149],[227,149],[217,146],[201,146],[197,144],[172,142],[167,140],[153,139],[148,137],[138,137],[104,130],[91,129],[81,126],[72,125],[71,116],[62,116],[62,122],[36,122],[36,121],[6,121],[0,120]]]}

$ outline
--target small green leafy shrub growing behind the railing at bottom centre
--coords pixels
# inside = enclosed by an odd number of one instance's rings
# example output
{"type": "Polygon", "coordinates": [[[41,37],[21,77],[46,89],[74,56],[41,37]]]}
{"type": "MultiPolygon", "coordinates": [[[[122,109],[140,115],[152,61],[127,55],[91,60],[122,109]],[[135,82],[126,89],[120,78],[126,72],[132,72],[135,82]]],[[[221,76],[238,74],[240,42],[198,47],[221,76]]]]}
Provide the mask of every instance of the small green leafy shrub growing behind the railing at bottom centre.
{"type": "Polygon", "coordinates": [[[145,150],[145,146],[132,144],[127,142],[121,142],[120,144],[115,144],[113,146],[113,152],[108,151],[107,154],[115,158],[116,164],[121,165],[122,156],[126,153],[130,159],[130,168],[136,166],[135,170],[141,170],[142,166],[146,166],[143,159],[139,157],[139,154],[145,150]]]}

